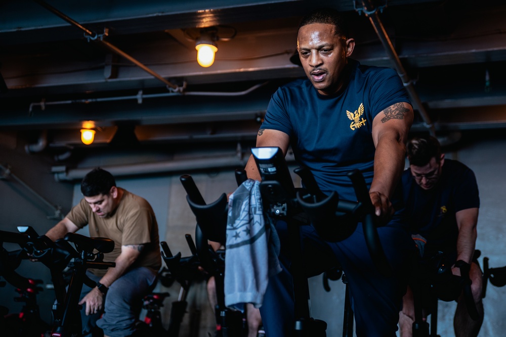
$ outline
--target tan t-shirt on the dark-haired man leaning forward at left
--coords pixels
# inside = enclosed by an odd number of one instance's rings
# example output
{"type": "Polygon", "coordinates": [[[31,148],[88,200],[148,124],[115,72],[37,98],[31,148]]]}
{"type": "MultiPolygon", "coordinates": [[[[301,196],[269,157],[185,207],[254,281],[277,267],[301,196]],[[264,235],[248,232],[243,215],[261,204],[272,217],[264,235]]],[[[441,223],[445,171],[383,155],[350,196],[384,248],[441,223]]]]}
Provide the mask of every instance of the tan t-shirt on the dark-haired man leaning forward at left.
{"type": "MultiPolygon", "coordinates": [[[[119,188],[118,189],[122,189],[119,188]]],[[[121,246],[145,245],[141,255],[131,268],[149,267],[158,271],[161,267],[158,224],[149,203],[135,194],[122,189],[123,196],[116,210],[101,218],[93,213],[83,198],[67,214],[67,218],[77,227],[89,225],[90,236],[108,237],[114,240],[114,250],[104,254],[104,261],[113,262],[121,253],[121,246]]],[[[107,270],[90,269],[95,275],[104,275],[107,270]]]]}

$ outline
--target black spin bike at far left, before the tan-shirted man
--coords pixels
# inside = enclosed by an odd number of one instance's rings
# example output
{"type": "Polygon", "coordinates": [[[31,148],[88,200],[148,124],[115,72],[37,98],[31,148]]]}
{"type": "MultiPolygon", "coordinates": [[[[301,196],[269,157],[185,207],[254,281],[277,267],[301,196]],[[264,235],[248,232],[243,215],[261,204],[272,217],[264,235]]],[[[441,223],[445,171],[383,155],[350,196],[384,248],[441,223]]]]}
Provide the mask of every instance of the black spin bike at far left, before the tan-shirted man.
{"type": "Polygon", "coordinates": [[[79,296],[82,285],[94,287],[96,283],[87,275],[88,268],[107,269],[114,262],[104,262],[104,253],[112,252],[114,241],[104,237],[88,237],[67,233],[53,242],[46,235],[39,236],[30,226],[18,226],[20,233],[2,232],[4,242],[18,244],[26,258],[36,259],[51,271],[56,303],[53,305],[51,337],[81,336],[79,296]],[[96,253],[95,253],[96,252],[96,253]],[[68,288],[63,269],[69,267],[72,276],[68,288]]]}

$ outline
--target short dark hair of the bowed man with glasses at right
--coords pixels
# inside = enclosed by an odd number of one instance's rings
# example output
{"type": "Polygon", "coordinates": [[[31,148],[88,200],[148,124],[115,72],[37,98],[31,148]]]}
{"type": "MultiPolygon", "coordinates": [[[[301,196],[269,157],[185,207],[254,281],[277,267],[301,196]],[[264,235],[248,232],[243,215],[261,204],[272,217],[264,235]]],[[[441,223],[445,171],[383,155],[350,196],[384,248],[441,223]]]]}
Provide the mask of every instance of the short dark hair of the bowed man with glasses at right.
{"type": "Polygon", "coordinates": [[[441,161],[441,145],[433,136],[414,137],[408,141],[406,152],[410,165],[425,166],[432,158],[441,161]]]}

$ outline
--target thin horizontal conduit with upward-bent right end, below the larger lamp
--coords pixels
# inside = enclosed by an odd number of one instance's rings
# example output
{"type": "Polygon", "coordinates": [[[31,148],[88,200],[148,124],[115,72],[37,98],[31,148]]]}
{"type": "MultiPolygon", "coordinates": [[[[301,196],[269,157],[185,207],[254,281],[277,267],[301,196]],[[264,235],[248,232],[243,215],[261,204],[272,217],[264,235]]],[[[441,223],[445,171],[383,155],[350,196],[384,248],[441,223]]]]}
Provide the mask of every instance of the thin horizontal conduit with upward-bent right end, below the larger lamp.
{"type": "Polygon", "coordinates": [[[137,100],[137,103],[141,104],[143,99],[150,98],[159,98],[159,97],[168,97],[168,96],[225,96],[225,97],[233,97],[233,96],[242,96],[248,94],[249,92],[258,89],[259,87],[267,84],[268,82],[255,84],[250,88],[243,91],[234,91],[234,92],[223,92],[223,91],[185,91],[185,92],[162,92],[162,93],[149,93],[143,94],[142,90],[139,90],[137,95],[129,95],[129,96],[119,96],[119,97],[103,97],[97,99],[83,99],[83,100],[66,100],[66,101],[53,101],[53,102],[34,102],[30,103],[30,107],[28,109],[29,114],[31,115],[33,107],[39,106],[42,110],[46,109],[47,105],[61,105],[61,104],[73,104],[73,103],[92,103],[92,102],[110,102],[110,101],[126,101],[126,100],[137,100]]]}

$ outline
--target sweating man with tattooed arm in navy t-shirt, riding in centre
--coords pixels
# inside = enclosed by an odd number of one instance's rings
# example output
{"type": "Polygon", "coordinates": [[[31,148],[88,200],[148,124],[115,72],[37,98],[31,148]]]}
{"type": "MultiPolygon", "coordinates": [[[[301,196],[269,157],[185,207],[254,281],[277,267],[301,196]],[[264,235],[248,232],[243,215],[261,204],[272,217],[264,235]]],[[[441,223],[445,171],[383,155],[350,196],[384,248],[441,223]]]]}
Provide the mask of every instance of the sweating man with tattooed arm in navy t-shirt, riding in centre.
{"type": "MultiPolygon", "coordinates": [[[[408,94],[394,70],[350,59],[355,40],[334,10],[307,15],[297,41],[307,79],[273,94],[257,146],[279,147],[285,155],[291,146],[298,164],[311,170],[325,194],[337,191],[346,200],[357,200],[346,174],[355,168],[362,171],[375,213],[384,224],[378,233],[393,275],[383,276],[373,264],[361,224],[339,242],[328,242],[312,226],[302,226],[304,256],[314,256],[305,267],[312,269],[308,274],[317,275],[341,265],[349,280],[357,335],[395,336],[405,292],[403,267],[413,248],[400,209],[393,206],[413,119],[408,94]]],[[[253,158],[246,171],[249,178],[261,180],[253,158]]],[[[329,221],[329,226],[336,225],[329,221]]],[[[269,337],[292,336],[295,320],[285,231],[276,229],[283,271],[269,278],[260,308],[269,337]]]]}

